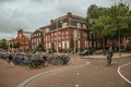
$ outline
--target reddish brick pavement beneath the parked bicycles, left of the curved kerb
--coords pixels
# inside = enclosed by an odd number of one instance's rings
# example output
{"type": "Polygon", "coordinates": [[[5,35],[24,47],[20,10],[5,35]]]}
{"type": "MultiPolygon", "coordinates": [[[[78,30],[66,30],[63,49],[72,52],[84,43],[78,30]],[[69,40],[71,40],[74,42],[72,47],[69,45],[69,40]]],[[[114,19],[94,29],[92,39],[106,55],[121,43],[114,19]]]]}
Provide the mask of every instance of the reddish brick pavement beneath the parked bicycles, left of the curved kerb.
{"type": "Polygon", "coordinates": [[[41,69],[28,70],[26,66],[14,65],[13,67],[5,60],[0,60],[0,87],[17,87],[23,80],[43,72],[52,71],[61,67],[82,64],[84,60],[76,57],[71,58],[66,65],[49,65],[41,69]]]}

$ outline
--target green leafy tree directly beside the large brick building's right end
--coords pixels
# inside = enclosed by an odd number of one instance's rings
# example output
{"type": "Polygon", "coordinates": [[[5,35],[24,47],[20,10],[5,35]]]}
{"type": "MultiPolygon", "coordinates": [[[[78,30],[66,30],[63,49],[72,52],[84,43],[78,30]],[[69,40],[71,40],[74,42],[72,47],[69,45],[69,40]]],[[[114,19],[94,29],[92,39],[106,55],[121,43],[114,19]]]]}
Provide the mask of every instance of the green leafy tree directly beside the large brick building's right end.
{"type": "Polygon", "coordinates": [[[86,22],[91,33],[94,34],[97,39],[103,39],[103,49],[105,50],[105,37],[107,34],[105,33],[104,23],[108,20],[106,8],[98,8],[96,4],[91,5],[87,9],[87,17],[86,22]]]}

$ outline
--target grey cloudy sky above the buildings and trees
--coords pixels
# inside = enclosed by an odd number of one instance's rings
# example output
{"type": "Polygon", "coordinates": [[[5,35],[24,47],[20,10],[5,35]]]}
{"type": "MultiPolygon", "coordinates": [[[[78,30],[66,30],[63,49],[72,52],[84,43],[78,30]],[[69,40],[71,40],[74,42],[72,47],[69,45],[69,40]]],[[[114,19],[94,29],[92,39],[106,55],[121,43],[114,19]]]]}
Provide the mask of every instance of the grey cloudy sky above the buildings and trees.
{"type": "MultiPolygon", "coordinates": [[[[130,0],[127,1],[131,4],[130,0]]],[[[17,29],[26,32],[46,26],[50,20],[72,12],[86,16],[91,4],[110,7],[119,0],[0,0],[0,39],[16,37],[17,29]]]]}

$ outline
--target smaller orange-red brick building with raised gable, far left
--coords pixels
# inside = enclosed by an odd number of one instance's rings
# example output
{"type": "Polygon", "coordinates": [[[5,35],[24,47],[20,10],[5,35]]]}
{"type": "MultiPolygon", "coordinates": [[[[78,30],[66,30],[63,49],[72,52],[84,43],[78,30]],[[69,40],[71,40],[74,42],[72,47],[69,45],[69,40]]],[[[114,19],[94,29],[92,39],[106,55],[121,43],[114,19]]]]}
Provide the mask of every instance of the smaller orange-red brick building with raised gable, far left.
{"type": "Polygon", "coordinates": [[[17,30],[16,38],[9,40],[9,50],[27,50],[31,44],[31,32],[23,32],[23,29],[17,30]],[[20,48],[14,48],[13,46],[19,44],[20,48]],[[12,47],[11,47],[12,46],[12,47]]]}

